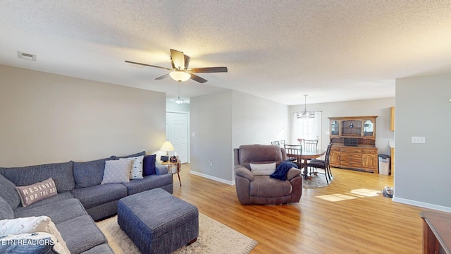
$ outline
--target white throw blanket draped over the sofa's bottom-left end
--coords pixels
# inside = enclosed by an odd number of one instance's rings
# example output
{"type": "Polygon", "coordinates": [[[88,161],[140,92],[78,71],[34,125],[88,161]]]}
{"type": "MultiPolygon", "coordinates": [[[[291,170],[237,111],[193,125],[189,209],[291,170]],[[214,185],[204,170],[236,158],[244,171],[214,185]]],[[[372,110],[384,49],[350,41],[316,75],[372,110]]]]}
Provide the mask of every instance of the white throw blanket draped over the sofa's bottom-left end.
{"type": "Polygon", "coordinates": [[[28,234],[41,232],[53,236],[54,250],[57,253],[70,254],[66,242],[50,217],[21,217],[0,220],[0,236],[7,236],[5,238],[27,238],[29,237],[28,234]]]}

